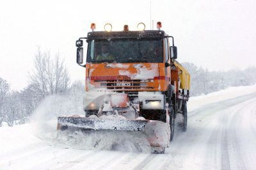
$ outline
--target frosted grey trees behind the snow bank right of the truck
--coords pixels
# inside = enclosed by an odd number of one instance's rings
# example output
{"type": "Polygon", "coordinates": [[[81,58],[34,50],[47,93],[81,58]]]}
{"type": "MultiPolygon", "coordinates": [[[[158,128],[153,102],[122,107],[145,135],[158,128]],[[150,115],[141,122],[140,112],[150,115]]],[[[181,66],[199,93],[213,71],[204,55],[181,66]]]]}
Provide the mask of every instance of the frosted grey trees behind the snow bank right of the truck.
{"type": "Polygon", "coordinates": [[[211,93],[230,86],[248,86],[256,82],[256,68],[232,69],[227,72],[209,72],[193,63],[182,63],[191,75],[190,95],[211,93]]]}

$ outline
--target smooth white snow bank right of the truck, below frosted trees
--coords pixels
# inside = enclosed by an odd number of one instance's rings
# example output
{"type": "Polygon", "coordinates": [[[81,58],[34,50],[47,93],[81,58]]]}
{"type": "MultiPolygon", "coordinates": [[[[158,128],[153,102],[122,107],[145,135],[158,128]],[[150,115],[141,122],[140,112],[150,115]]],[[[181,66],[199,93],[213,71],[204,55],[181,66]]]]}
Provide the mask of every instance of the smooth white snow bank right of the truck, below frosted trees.
{"type": "Polygon", "coordinates": [[[248,95],[250,93],[256,93],[256,84],[253,86],[230,87],[207,95],[191,97],[188,101],[188,111],[193,111],[203,105],[221,102],[223,100],[248,95]]]}

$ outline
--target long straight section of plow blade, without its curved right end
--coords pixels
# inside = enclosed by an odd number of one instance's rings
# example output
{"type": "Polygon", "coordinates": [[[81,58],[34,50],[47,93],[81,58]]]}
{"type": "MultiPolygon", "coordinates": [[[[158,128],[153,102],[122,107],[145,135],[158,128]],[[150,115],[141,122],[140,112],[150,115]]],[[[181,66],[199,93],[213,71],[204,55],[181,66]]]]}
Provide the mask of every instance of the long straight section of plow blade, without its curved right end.
{"type": "Polygon", "coordinates": [[[116,120],[116,119],[90,119],[84,117],[58,117],[58,130],[67,127],[82,128],[84,130],[126,130],[143,131],[148,120],[116,120]]]}

